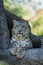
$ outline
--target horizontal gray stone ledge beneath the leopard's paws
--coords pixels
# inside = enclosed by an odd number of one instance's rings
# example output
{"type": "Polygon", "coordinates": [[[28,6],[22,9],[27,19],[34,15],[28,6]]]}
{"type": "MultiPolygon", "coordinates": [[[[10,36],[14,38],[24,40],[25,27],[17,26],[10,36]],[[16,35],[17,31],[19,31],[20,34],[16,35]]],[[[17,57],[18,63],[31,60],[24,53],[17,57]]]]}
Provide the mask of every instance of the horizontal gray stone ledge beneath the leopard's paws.
{"type": "Polygon", "coordinates": [[[43,49],[29,49],[22,59],[11,55],[10,49],[0,50],[0,59],[12,63],[12,65],[43,65],[43,49]]]}

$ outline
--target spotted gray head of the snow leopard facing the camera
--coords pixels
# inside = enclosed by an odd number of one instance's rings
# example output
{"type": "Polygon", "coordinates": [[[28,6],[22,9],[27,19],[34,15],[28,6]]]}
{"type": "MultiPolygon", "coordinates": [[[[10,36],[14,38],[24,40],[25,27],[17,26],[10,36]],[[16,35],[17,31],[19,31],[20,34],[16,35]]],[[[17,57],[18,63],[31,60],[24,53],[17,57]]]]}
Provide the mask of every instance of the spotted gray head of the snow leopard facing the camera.
{"type": "Polygon", "coordinates": [[[30,28],[28,27],[28,23],[26,21],[16,21],[13,20],[13,34],[17,34],[18,36],[26,35],[30,33],[30,28]]]}

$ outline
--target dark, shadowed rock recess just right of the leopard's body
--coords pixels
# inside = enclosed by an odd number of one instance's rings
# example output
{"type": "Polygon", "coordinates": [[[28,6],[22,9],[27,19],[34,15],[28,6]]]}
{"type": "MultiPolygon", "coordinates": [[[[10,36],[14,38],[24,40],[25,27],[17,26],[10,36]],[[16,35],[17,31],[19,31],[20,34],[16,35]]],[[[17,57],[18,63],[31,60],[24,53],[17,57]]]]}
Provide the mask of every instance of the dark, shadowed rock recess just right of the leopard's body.
{"type": "Polygon", "coordinates": [[[30,38],[32,40],[33,48],[40,48],[41,47],[41,38],[40,36],[30,34],[30,38]]]}

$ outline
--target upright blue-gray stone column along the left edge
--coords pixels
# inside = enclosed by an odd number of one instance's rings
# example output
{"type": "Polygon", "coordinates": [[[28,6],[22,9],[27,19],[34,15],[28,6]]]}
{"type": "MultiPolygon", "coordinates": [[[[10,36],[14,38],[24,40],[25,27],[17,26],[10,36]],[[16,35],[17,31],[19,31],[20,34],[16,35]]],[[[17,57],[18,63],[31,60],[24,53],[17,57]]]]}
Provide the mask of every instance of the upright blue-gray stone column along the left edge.
{"type": "Polygon", "coordinates": [[[7,21],[3,13],[3,2],[0,0],[0,48],[8,48],[10,44],[7,21]]]}

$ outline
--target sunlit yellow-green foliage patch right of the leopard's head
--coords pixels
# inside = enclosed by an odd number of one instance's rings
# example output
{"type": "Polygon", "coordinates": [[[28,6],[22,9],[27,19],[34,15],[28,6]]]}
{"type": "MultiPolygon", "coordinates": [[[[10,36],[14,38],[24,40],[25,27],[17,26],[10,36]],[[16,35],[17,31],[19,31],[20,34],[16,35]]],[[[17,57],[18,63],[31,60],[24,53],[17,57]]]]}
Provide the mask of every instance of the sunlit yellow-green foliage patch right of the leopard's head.
{"type": "Polygon", "coordinates": [[[30,22],[32,33],[36,35],[43,35],[43,16],[35,22],[30,22]]]}

